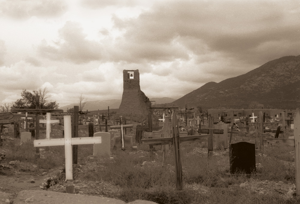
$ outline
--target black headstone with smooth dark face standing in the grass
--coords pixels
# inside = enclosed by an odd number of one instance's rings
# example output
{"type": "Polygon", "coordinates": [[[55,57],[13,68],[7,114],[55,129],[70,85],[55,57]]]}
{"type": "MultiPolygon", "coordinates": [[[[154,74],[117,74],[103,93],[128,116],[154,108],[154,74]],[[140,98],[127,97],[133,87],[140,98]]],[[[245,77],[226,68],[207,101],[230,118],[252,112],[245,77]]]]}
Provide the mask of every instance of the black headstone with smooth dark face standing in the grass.
{"type": "Polygon", "coordinates": [[[231,174],[256,172],[255,144],[247,142],[229,144],[229,158],[231,174]]]}

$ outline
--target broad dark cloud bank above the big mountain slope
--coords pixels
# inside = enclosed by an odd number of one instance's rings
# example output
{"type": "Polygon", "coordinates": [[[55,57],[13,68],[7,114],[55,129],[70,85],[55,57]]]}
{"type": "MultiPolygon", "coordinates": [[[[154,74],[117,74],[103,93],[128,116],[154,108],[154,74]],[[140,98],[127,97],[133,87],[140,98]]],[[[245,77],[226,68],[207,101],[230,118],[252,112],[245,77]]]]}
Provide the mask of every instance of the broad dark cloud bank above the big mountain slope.
{"type": "Polygon", "coordinates": [[[269,50],[284,47],[283,55],[300,54],[295,1],[164,1],[137,18],[112,19],[124,32],[116,40],[115,61],[189,60],[190,54],[217,52],[257,65],[271,60],[261,49],[265,44],[269,50]]]}

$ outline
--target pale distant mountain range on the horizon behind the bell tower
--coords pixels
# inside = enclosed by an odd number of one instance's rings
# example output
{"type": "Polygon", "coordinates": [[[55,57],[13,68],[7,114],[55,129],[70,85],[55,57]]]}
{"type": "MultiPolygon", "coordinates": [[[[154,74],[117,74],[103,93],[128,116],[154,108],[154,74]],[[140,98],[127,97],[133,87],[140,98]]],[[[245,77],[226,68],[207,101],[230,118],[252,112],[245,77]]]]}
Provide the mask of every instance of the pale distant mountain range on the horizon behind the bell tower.
{"type": "MultiPolygon", "coordinates": [[[[173,98],[150,98],[150,101],[153,101],[152,104],[166,104],[175,101],[173,98]],[[155,101],[155,102],[154,102],[155,101]]],[[[89,110],[106,110],[108,106],[110,109],[118,109],[121,104],[121,99],[111,99],[111,100],[102,100],[102,101],[87,101],[83,111],[89,110]]],[[[73,108],[74,106],[78,106],[78,103],[73,103],[67,106],[60,107],[59,109],[67,111],[68,108],[73,108]]]]}

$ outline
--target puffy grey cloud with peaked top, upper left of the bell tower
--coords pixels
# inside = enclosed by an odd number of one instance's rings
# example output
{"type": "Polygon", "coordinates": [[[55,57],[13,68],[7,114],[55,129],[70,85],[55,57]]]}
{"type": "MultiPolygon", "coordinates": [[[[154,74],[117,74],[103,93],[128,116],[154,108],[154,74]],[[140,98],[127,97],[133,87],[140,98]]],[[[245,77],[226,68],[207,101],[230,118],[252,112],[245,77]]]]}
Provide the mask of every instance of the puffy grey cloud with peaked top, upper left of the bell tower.
{"type": "Polygon", "coordinates": [[[58,41],[52,44],[43,40],[38,47],[42,56],[59,61],[72,61],[76,64],[100,60],[103,57],[103,46],[97,41],[86,40],[86,34],[79,23],[66,22],[58,31],[58,41]]]}

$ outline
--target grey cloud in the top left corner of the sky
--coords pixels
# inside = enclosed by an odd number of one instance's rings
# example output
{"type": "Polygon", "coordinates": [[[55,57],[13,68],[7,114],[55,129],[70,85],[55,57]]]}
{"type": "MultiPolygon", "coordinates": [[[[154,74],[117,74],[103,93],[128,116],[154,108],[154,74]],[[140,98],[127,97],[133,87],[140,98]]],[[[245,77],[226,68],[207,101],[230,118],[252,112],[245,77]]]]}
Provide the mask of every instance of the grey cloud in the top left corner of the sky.
{"type": "Polygon", "coordinates": [[[0,2],[0,15],[16,19],[38,17],[55,17],[67,9],[65,1],[61,0],[6,0],[0,2]]]}

